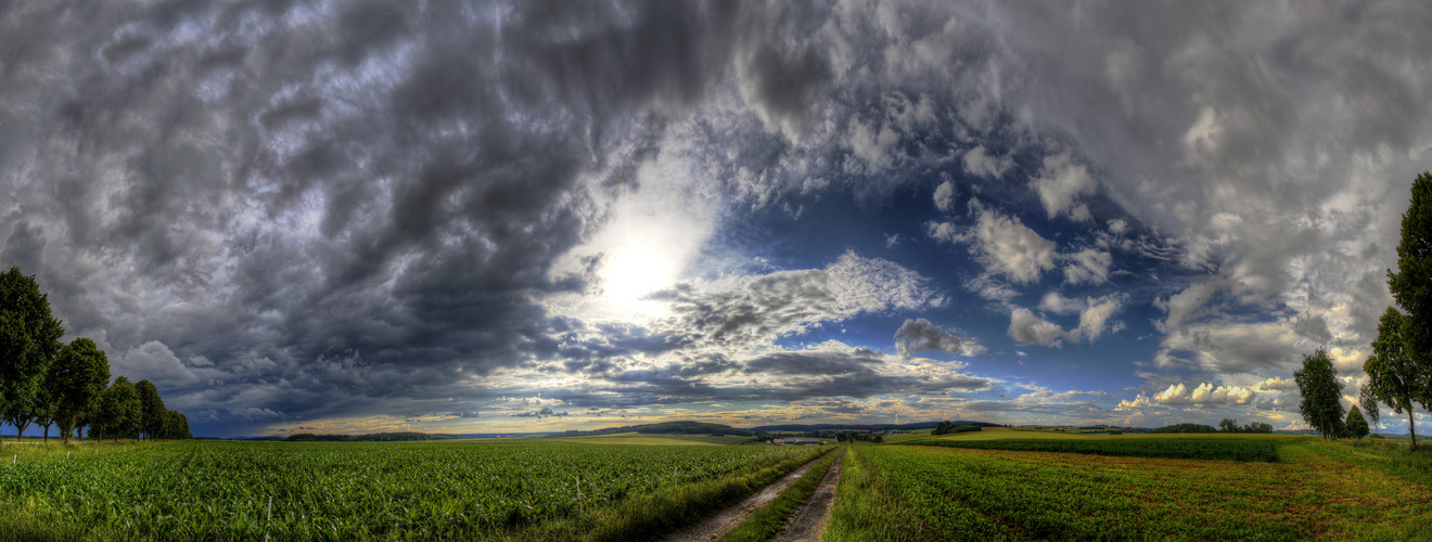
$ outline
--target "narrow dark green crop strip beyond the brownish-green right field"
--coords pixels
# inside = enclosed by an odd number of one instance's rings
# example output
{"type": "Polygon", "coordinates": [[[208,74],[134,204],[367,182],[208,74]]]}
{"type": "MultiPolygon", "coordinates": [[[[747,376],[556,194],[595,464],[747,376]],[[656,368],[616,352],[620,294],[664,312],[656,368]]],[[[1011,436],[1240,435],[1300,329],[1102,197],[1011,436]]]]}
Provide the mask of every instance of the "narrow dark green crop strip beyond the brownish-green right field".
{"type": "Polygon", "coordinates": [[[1167,459],[1277,460],[1273,440],[1243,439],[928,439],[914,446],[945,446],[1015,452],[1091,453],[1167,459]]]}

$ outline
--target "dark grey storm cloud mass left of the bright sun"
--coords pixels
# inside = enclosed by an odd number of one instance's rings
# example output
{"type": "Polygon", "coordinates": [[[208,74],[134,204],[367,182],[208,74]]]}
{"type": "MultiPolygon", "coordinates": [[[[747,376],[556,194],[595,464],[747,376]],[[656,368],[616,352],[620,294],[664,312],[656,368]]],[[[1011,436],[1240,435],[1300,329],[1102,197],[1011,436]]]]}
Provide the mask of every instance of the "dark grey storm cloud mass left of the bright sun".
{"type": "MultiPolygon", "coordinates": [[[[295,376],[338,350],[385,376],[368,379],[378,396],[511,366],[553,349],[531,297],[583,287],[547,273],[591,227],[579,176],[629,167],[607,162],[614,146],[697,103],[729,70],[737,17],[673,3],[13,4],[3,256],[73,285],[57,305],[74,332],[160,340],[229,382],[248,356],[315,392],[325,378],[295,376]],[[120,297],[109,316],[123,323],[82,316],[69,299],[86,293],[120,297]]],[[[785,59],[772,47],[760,59],[785,59]]],[[[753,72],[766,90],[776,76],[753,72]]]]}

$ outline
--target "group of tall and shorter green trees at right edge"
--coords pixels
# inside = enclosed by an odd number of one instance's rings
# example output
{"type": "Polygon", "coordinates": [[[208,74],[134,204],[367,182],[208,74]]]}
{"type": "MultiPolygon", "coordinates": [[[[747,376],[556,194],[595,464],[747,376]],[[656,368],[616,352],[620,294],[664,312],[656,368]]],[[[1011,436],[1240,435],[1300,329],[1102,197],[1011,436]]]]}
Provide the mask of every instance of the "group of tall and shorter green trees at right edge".
{"type": "MultiPolygon", "coordinates": [[[[1388,290],[1402,310],[1390,306],[1378,322],[1372,356],[1362,366],[1368,383],[1358,402],[1373,425],[1380,405],[1406,413],[1416,448],[1412,409],[1432,408],[1432,174],[1428,172],[1412,182],[1412,205],[1402,213],[1398,272],[1388,269],[1388,290]]],[[[1368,419],[1356,405],[1343,418],[1343,385],[1326,350],[1303,356],[1303,369],[1293,378],[1303,393],[1299,412],[1323,438],[1368,435],[1368,419]]]]}

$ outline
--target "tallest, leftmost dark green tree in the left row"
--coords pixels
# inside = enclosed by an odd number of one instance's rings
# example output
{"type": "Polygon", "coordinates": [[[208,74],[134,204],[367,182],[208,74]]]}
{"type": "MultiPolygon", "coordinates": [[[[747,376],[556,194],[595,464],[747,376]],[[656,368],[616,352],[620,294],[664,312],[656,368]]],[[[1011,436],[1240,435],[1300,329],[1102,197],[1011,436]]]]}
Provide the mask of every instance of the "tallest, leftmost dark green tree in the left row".
{"type": "Polygon", "coordinates": [[[0,418],[16,438],[34,419],[40,380],[60,352],[64,327],[50,315],[50,299],[20,267],[0,273],[0,418]]]}

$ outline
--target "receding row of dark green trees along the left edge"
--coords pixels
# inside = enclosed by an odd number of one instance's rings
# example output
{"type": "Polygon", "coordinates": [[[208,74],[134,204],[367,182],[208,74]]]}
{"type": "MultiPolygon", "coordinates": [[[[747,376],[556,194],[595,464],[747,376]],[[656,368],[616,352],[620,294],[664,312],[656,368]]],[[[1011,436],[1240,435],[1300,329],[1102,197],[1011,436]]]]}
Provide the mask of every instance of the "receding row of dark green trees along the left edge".
{"type": "Polygon", "coordinates": [[[109,383],[109,358],[93,340],[60,343],[64,327],[50,313],[34,276],[0,273],[0,419],[23,438],[32,423],[56,426],[70,442],[82,428],[100,439],[186,439],[189,420],[165,408],[149,380],[109,383]]]}

